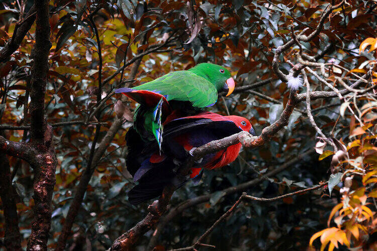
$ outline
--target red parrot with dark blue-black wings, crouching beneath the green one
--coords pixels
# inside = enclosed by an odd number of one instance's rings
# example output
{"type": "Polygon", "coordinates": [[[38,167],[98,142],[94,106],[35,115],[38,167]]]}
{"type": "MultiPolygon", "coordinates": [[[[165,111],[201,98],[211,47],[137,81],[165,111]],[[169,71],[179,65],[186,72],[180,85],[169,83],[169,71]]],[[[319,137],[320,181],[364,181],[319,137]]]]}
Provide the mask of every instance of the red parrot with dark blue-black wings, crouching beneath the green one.
{"type": "MultiPolygon", "coordinates": [[[[182,165],[191,150],[208,142],[223,139],[241,131],[255,136],[249,120],[240,116],[222,116],[203,112],[195,116],[167,117],[164,127],[161,152],[155,141],[143,142],[135,129],[130,128],[126,135],[128,155],[127,169],[138,181],[129,193],[131,204],[139,204],[161,195],[164,186],[173,183],[176,187],[184,182],[177,181],[175,171],[182,165]]],[[[236,144],[214,154],[204,156],[192,168],[190,178],[199,182],[203,169],[215,169],[233,162],[241,149],[236,144]]]]}

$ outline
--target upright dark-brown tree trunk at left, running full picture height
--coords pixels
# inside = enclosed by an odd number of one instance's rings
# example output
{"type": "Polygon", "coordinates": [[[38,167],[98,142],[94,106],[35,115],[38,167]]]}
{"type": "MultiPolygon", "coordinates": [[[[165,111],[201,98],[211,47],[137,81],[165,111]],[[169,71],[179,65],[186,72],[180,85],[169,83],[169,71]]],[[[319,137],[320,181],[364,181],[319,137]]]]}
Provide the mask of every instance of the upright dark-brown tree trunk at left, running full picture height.
{"type": "Polygon", "coordinates": [[[37,151],[30,161],[34,169],[34,218],[27,250],[47,250],[51,227],[51,200],[55,185],[57,160],[52,141],[52,129],[45,117],[45,92],[49,69],[48,55],[51,48],[49,10],[47,0],[35,0],[36,43],[33,53],[30,114],[30,146],[37,151]]]}

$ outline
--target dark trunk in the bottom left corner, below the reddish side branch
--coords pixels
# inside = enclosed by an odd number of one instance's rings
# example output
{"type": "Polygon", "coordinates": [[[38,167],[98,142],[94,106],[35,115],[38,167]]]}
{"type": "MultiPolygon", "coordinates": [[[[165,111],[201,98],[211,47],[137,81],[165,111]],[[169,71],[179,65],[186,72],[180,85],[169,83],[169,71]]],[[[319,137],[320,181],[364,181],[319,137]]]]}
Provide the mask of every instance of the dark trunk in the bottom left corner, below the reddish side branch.
{"type": "Polygon", "coordinates": [[[5,217],[5,247],[7,250],[22,250],[11,168],[7,155],[2,152],[0,152],[0,198],[5,217]]]}

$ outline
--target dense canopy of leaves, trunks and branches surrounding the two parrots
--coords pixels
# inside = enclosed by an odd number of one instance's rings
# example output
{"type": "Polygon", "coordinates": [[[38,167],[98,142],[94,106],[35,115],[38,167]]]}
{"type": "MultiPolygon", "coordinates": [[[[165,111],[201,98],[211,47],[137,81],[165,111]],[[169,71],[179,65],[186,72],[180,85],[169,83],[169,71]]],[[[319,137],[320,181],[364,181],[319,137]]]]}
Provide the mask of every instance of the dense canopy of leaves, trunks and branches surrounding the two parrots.
{"type": "Polygon", "coordinates": [[[0,249],[377,248],[376,7],[2,1],[0,249]],[[236,83],[207,109],[246,117],[256,136],[197,148],[179,174],[243,145],[198,184],[131,205],[136,103],[115,89],[204,62],[236,83]]]}

